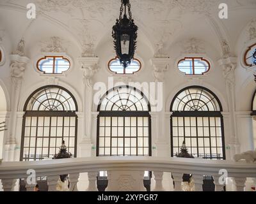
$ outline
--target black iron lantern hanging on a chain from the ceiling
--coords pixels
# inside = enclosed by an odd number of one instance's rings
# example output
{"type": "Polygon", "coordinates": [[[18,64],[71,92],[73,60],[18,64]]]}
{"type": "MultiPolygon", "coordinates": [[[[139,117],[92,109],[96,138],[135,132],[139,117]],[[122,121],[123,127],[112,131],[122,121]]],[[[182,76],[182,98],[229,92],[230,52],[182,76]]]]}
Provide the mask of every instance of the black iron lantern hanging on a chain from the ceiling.
{"type": "Polygon", "coordinates": [[[119,19],[116,19],[116,24],[113,26],[112,36],[114,38],[116,56],[120,59],[120,63],[123,64],[124,68],[127,68],[136,50],[138,26],[134,24],[132,19],[131,3],[129,0],[121,0],[121,2],[120,16],[119,19]],[[127,18],[127,10],[129,18],[127,18]]]}

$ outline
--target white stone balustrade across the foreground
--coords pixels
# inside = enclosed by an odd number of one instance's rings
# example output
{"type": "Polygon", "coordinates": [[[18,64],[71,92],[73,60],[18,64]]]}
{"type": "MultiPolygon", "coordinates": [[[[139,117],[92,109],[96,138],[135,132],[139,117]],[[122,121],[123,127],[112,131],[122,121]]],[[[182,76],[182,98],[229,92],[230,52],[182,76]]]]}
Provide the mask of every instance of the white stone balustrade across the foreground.
{"type": "MultiPolygon", "coordinates": [[[[143,172],[152,171],[156,186],[152,191],[164,191],[163,172],[172,173],[175,191],[182,191],[183,174],[192,174],[195,191],[202,191],[203,177],[214,178],[216,191],[223,190],[220,184],[220,170],[227,170],[237,191],[244,191],[247,178],[256,178],[256,164],[245,161],[217,161],[207,159],[167,158],[167,157],[83,157],[45,161],[14,161],[0,164],[0,179],[4,191],[12,191],[17,179],[28,178],[27,171],[35,170],[36,177],[47,177],[49,191],[56,191],[59,175],[68,174],[70,191],[77,191],[79,173],[88,172],[87,191],[97,191],[99,171],[108,171],[106,191],[145,191],[143,172]]],[[[170,177],[171,179],[171,177],[170,177]]],[[[31,185],[26,187],[31,191],[31,185]]],[[[27,189],[27,190],[28,190],[27,189]]]]}

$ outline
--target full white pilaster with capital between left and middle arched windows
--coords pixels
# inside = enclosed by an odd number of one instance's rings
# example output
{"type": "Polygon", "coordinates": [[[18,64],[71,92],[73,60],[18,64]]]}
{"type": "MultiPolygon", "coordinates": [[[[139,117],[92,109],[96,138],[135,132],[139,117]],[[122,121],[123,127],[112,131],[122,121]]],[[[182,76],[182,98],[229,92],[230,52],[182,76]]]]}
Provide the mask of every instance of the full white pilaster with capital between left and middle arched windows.
{"type": "Polygon", "coordinates": [[[92,104],[93,104],[93,77],[99,71],[99,57],[79,57],[77,59],[83,70],[83,110],[84,110],[84,136],[80,143],[81,152],[86,156],[92,150],[92,104]]]}

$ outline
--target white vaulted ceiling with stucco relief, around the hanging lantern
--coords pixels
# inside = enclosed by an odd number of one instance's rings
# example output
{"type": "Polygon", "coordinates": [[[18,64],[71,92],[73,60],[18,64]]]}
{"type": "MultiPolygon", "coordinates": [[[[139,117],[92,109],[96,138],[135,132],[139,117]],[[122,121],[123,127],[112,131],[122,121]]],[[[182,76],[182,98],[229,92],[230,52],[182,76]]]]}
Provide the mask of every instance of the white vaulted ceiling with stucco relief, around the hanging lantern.
{"type": "MultiPolygon", "coordinates": [[[[244,26],[255,17],[256,0],[225,0],[228,19],[218,17],[223,0],[131,0],[132,15],[139,27],[139,41],[150,44],[152,52],[163,43],[196,37],[216,49],[225,39],[234,48],[244,26]]],[[[119,15],[120,0],[1,0],[0,30],[6,30],[13,48],[20,38],[28,45],[49,36],[60,36],[96,48],[112,41],[111,28],[119,15]],[[26,18],[26,5],[36,4],[36,19],[26,18]]],[[[0,36],[1,37],[1,36],[0,36]]]]}

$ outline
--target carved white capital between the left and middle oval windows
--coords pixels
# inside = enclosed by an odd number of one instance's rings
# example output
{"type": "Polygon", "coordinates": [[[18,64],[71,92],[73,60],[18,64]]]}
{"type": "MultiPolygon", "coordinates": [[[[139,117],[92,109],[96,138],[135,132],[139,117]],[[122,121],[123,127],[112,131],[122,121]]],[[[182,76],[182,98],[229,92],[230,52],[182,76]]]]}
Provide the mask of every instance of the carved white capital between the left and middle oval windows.
{"type": "Polygon", "coordinates": [[[79,57],[77,58],[83,70],[84,82],[88,87],[92,87],[92,78],[100,69],[99,57],[79,57]]]}

